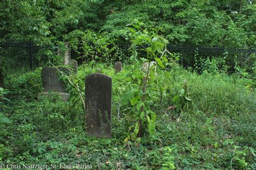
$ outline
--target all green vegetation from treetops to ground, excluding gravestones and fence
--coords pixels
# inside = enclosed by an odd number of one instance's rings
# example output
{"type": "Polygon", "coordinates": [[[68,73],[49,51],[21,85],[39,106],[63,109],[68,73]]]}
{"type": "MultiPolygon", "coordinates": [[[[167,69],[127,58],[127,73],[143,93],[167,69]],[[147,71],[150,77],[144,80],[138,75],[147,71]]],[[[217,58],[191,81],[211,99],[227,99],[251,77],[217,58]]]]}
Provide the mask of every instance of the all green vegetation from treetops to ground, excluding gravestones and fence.
{"type": "Polygon", "coordinates": [[[54,92],[37,96],[42,68],[5,78],[0,165],[256,168],[255,54],[245,62],[167,48],[254,48],[255,4],[231,2],[4,1],[2,37],[49,45],[44,55],[52,67],[63,67],[55,47],[64,51],[69,42],[82,63],[77,73],[59,74],[68,102],[54,92]],[[123,61],[121,72],[114,72],[115,61],[123,61]],[[84,82],[96,72],[113,81],[111,139],[86,135],[84,82]]]}

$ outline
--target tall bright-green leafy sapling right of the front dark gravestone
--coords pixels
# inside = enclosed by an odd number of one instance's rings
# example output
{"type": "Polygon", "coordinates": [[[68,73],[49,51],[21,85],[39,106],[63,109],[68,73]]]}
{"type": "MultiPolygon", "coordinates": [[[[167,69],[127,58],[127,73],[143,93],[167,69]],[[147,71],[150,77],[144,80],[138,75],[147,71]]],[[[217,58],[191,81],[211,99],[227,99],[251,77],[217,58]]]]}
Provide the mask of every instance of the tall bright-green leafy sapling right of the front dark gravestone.
{"type": "MultiPolygon", "coordinates": [[[[127,140],[133,140],[136,141],[136,143],[140,143],[141,138],[143,137],[143,131],[145,123],[147,123],[147,130],[149,131],[149,134],[151,137],[154,137],[154,131],[155,131],[155,123],[156,123],[156,113],[153,112],[150,109],[149,102],[147,100],[150,100],[150,93],[152,93],[149,90],[146,90],[147,86],[150,86],[150,83],[157,82],[156,79],[156,65],[151,66],[152,59],[156,60],[156,63],[158,64],[158,67],[165,68],[163,65],[163,61],[168,61],[165,56],[160,59],[158,58],[160,55],[161,57],[164,54],[164,47],[167,44],[167,40],[165,40],[163,37],[152,34],[150,35],[147,30],[143,30],[140,25],[142,23],[136,21],[136,23],[131,24],[133,28],[129,27],[129,30],[131,31],[131,37],[132,37],[132,45],[131,45],[131,51],[133,55],[131,56],[130,60],[138,61],[137,55],[140,55],[140,57],[143,57],[143,54],[140,54],[137,52],[137,48],[142,48],[140,51],[146,52],[146,59],[142,59],[142,61],[147,62],[147,66],[145,68],[145,73],[142,72],[132,72],[133,81],[138,80],[140,83],[135,84],[134,88],[132,88],[129,92],[127,92],[124,97],[122,98],[121,105],[127,104],[130,102],[132,108],[131,108],[131,114],[133,117],[138,117],[137,123],[135,126],[131,126],[130,129],[134,128],[133,132],[125,138],[125,141],[127,140]],[[138,86],[139,85],[139,86],[138,86]]],[[[152,90],[152,89],[150,89],[152,90]]]]}

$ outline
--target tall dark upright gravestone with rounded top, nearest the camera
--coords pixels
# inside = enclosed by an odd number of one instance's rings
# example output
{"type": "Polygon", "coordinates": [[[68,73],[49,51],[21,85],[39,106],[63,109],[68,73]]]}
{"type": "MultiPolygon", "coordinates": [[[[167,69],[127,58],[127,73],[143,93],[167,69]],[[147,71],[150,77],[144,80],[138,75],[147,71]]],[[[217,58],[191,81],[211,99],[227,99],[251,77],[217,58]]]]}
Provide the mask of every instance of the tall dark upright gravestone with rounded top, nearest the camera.
{"type": "Polygon", "coordinates": [[[100,73],[87,75],[85,103],[89,136],[111,138],[112,78],[100,73]]]}

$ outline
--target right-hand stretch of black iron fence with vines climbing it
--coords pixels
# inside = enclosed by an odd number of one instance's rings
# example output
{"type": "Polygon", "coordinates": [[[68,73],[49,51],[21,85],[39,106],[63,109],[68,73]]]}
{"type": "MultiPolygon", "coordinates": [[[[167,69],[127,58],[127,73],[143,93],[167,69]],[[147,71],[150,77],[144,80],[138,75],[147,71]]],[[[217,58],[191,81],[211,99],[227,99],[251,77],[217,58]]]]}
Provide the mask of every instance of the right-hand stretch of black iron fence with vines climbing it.
{"type": "Polygon", "coordinates": [[[194,67],[199,60],[223,59],[225,64],[230,66],[231,72],[235,66],[242,68],[253,67],[256,60],[256,48],[220,48],[220,47],[177,47],[168,46],[171,53],[179,54],[180,63],[185,67],[194,67]]]}

